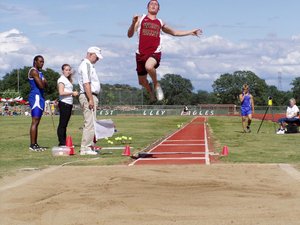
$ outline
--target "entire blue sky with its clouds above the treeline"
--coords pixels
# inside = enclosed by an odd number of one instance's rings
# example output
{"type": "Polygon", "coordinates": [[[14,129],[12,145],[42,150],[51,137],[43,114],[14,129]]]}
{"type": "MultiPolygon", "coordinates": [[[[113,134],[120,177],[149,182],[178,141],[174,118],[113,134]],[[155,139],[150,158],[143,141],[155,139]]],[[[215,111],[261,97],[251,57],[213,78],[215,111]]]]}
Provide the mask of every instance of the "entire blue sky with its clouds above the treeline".
{"type": "MultiPolygon", "coordinates": [[[[89,46],[103,49],[97,64],[103,83],[138,86],[134,51],[137,38],[126,32],[134,14],[146,13],[144,0],[16,1],[0,3],[0,78],[30,66],[43,54],[45,67],[75,69],[89,46]]],[[[282,89],[300,76],[300,1],[161,0],[159,17],[175,29],[202,28],[201,38],[163,35],[159,78],[176,73],[195,90],[211,90],[219,75],[252,70],[282,89]]]]}

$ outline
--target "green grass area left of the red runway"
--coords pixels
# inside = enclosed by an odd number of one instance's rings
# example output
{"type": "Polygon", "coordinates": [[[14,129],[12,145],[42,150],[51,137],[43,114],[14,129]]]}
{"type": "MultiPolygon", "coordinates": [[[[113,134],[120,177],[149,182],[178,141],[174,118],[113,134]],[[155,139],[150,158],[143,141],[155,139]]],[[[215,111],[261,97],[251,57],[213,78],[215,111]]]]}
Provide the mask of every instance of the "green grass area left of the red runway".
{"type": "MultiPolygon", "coordinates": [[[[54,117],[55,126],[58,125],[58,116],[54,117]]],[[[103,118],[98,118],[103,119],[103,118]]],[[[191,117],[132,117],[118,116],[112,118],[118,132],[117,136],[130,136],[133,141],[133,151],[142,150],[149,144],[170,134],[177,129],[177,124],[186,123],[191,117]]],[[[57,146],[56,127],[53,128],[50,116],[44,116],[39,126],[38,143],[48,147],[48,151],[37,153],[28,150],[30,117],[0,117],[0,177],[14,173],[21,168],[43,168],[49,165],[61,165],[76,162],[76,165],[115,165],[128,163],[128,157],[122,156],[123,150],[104,150],[98,160],[90,161],[92,156],[80,156],[80,140],[82,136],[83,117],[72,116],[68,134],[72,136],[77,155],[72,157],[53,157],[51,148],[57,146]]],[[[111,139],[114,141],[114,137],[111,139]]],[[[114,145],[107,140],[98,141],[102,147],[124,146],[114,141],[114,145]]]]}

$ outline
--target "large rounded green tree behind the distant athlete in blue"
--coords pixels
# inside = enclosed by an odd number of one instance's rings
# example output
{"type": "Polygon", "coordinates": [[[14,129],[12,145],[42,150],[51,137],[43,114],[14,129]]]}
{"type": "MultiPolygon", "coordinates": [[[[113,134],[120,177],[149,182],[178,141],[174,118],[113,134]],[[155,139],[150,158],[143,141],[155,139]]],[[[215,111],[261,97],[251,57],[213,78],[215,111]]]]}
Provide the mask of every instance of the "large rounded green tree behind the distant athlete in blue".
{"type": "Polygon", "coordinates": [[[238,96],[243,84],[248,84],[256,105],[265,105],[268,85],[251,71],[236,71],[233,74],[222,74],[214,81],[212,87],[221,104],[239,104],[238,96]]]}

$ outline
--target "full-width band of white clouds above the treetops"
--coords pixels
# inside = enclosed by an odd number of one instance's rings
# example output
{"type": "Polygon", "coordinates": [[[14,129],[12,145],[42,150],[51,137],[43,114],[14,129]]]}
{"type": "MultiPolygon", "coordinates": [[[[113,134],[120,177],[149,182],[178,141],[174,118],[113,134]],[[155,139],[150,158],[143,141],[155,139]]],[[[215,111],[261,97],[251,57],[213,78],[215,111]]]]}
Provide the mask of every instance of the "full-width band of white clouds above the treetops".
{"type": "MultiPolygon", "coordinates": [[[[97,63],[103,83],[123,83],[138,86],[135,71],[135,41],[120,39],[116,43],[101,43],[103,61],[97,63]]],[[[36,54],[45,57],[45,67],[60,71],[63,63],[74,69],[85,56],[85,49],[71,51],[36,46],[17,29],[0,33],[0,76],[14,68],[30,66],[36,54]]],[[[276,84],[278,73],[282,86],[289,88],[292,79],[300,75],[300,35],[290,39],[276,37],[232,42],[221,36],[171,37],[163,35],[163,56],[158,76],[180,74],[192,81],[195,90],[211,90],[219,75],[236,70],[252,70],[269,84],[276,84]]]]}

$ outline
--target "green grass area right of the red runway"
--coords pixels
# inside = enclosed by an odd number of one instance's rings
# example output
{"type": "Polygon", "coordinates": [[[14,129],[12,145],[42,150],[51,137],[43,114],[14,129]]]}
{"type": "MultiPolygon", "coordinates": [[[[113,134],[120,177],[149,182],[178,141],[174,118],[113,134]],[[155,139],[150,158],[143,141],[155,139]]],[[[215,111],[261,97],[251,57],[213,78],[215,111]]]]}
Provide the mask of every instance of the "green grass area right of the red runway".
{"type": "MultiPolygon", "coordinates": [[[[300,162],[300,134],[275,134],[278,125],[264,121],[257,134],[261,121],[254,120],[250,134],[241,133],[240,117],[211,117],[209,124],[213,130],[215,146],[221,151],[227,145],[229,156],[225,162],[250,163],[291,163],[300,162]]],[[[296,165],[297,166],[297,165],[296,165]]]]}

